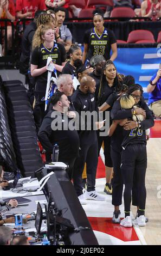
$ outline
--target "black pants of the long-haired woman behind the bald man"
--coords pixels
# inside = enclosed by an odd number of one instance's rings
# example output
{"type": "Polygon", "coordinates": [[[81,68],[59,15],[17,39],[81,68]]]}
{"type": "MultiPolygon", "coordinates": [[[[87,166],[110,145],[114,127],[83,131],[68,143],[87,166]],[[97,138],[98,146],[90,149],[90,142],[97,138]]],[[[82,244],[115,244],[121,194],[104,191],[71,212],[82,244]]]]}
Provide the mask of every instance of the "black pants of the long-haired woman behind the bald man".
{"type": "Polygon", "coordinates": [[[100,131],[97,131],[98,155],[100,154],[100,149],[102,147],[102,143],[104,142],[105,166],[113,167],[113,163],[111,159],[111,137],[99,136],[99,132],[100,131]]]}

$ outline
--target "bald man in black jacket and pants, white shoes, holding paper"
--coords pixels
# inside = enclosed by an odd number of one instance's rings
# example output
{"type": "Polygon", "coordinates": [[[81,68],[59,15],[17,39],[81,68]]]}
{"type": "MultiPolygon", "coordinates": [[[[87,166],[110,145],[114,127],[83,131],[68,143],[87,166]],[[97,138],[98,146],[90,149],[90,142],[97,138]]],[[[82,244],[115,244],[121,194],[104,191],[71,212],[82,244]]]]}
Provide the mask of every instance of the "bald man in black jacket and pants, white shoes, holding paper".
{"type": "Polygon", "coordinates": [[[100,129],[103,123],[97,121],[98,108],[96,107],[94,92],[95,80],[92,77],[84,76],[81,79],[79,89],[71,97],[75,110],[79,113],[85,124],[84,127],[80,125],[80,156],[75,161],[73,175],[74,187],[81,203],[85,202],[85,199],[105,200],[104,197],[95,192],[95,176],[98,165],[96,130],[100,129]],[[82,114],[85,114],[87,111],[89,114],[94,111],[94,116],[83,118],[82,114]],[[87,191],[83,194],[82,173],[85,162],[87,164],[87,191]]]}

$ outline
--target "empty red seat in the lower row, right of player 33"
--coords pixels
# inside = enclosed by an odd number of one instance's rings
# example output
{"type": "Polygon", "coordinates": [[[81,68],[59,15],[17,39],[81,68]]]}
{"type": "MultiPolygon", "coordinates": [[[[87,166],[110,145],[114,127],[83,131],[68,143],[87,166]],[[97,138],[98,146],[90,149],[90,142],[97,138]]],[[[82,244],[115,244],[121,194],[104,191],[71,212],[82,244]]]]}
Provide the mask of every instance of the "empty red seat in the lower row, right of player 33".
{"type": "Polygon", "coordinates": [[[131,31],[128,34],[128,38],[127,38],[128,43],[129,42],[134,43],[140,40],[146,40],[146,41],[151,40],[152,42],[155,42],[152,32],[148,30],[138,29],[138,30],[131,31]]]}

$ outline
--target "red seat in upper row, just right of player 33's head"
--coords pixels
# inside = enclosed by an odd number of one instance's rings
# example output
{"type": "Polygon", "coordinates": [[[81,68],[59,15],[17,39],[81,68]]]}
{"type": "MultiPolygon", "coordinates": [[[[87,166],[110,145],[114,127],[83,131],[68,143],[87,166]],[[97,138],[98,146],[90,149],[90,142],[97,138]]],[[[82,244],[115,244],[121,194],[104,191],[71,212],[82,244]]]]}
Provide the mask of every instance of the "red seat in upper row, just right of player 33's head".
{"type": "Polygon", "coordinates": [[[110,17],[135,17],[136,13],[134,12],[134,10],[130,7],[116,7],[111,11],[111,15],[110,17]]]}

